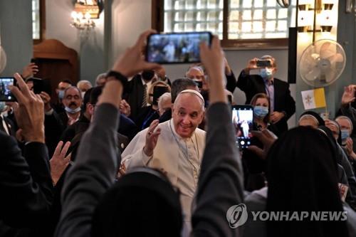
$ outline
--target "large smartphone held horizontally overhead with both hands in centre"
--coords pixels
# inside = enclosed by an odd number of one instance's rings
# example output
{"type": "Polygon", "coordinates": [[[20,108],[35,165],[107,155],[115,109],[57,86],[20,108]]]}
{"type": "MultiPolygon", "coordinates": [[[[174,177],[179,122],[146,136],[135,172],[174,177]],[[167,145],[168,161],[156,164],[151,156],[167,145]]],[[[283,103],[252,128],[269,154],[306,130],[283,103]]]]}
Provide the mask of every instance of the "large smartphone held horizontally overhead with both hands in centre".
{"type": "Polygon", "coordinates": [[[146,60],[150,63],[199,63],[199,45],[211,45],[211,32],[155,33],[147,38],[146,60]]]}

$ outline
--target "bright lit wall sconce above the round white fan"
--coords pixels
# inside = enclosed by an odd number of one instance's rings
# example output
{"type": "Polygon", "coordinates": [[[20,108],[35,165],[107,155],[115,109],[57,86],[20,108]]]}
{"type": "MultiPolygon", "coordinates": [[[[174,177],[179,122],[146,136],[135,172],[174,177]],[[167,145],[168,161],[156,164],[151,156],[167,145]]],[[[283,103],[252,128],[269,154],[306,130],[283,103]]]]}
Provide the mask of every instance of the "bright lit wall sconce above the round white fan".
{"type": "Polygon", "coordinates": [[[335,25],[333,6],[335,0],[300,0],[298,1],[298,32],[329,32],[335,25]],[[319,27],[317,27],[319,26],[319,27]]]}

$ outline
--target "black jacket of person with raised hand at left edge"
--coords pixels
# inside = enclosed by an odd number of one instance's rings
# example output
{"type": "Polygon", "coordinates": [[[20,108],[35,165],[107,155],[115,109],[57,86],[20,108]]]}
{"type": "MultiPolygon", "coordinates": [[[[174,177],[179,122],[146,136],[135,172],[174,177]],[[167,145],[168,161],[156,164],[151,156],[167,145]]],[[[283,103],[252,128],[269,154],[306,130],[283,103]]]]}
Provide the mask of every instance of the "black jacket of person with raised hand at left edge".
{"type": "Polygon", "coordinates": [[[53,201],[53,184],[45,144],[31,142],[24,157],[14,139],[0,132],[0,235],[14,228],[43,228],[53,201]],[[7,228],[3,228],[4,225],[7,228]]]}

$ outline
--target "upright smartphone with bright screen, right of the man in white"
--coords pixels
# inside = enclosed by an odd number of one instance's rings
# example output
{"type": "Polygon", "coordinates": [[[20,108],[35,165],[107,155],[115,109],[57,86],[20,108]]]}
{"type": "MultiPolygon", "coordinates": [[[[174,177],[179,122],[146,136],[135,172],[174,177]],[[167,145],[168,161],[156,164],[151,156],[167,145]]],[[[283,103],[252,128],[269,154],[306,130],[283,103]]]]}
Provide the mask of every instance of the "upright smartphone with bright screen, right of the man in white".
{"type": "Polygon", "coordinates": [[[232,105],[232,124],[235,127],[236,145],[246,149],[251,145],[253,130],[253,107],[251,105],[232,105]]]}

